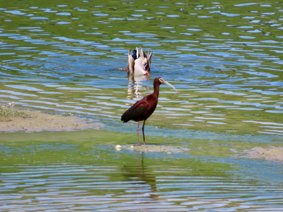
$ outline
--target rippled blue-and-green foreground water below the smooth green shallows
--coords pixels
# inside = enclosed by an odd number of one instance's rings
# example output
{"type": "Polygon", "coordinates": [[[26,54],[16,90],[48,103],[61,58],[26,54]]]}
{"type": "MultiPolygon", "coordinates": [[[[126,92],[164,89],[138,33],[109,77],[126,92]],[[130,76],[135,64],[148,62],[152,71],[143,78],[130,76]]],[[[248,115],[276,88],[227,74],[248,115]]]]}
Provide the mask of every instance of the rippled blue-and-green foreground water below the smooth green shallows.
{"type": "Polygon", "coordinates": [[[115,174],[134,174],[134,167],[122,172],[115,166],[15,168],[19,171],[1,173],[1,211],[278,210],[283,197],[282,189],[275,186],[224,177],[178,176],[186,170],[177,167],[166,171],[156,166],[155,172],[162,172],[162,176],[150,179],[141,175],[123,181],[115,180],[115,174]]]}

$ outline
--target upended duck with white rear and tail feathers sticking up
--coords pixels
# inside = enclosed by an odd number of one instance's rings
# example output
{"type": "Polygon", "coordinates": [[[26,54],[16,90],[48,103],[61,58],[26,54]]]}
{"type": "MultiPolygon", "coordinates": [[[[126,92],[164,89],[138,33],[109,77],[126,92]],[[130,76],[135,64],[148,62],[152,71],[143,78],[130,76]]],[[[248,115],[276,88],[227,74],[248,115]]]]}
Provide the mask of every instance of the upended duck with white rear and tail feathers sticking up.
{"type": "Polygon", "coordinates": [[[150,71],[150,60],[152,51],[146,56],[140,47],[140,54],[138,53],[138,47],[133,50],[133,55],[131,55],[131,49],[128,52],[128,73],[136,75],[149,75],[150,71]]]}

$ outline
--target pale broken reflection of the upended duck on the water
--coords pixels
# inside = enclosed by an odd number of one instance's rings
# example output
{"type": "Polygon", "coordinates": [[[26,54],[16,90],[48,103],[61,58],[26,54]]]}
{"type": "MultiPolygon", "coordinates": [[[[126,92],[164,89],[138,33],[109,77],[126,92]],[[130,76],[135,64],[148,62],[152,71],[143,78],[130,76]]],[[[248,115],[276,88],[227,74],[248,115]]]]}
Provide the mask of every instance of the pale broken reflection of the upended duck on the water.
{"type": "Polygon", "coordinates": [[[148,86],[141,85],[141,81],[149,81],[148,75],[133,75],[128,74],[128,96],[127,99],[138,101],[145,96],[145,92],[149,89],[148,86]]]}

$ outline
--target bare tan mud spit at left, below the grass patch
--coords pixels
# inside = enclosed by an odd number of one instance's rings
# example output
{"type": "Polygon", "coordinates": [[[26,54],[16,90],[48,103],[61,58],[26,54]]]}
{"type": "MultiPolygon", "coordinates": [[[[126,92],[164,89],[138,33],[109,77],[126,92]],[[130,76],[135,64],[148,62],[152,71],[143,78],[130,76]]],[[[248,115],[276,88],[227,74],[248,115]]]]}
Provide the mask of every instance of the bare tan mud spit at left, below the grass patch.
{"type": "Polygon", "coordinates": [[[52,115],[40,111],[27,111],[27,113],[30,116],[28,118],[17,116],[0,122],[0,132],[72,131],[76,129],[99,129],[102,126],[97,120],[86,120],[79,116],[52,115]]]}

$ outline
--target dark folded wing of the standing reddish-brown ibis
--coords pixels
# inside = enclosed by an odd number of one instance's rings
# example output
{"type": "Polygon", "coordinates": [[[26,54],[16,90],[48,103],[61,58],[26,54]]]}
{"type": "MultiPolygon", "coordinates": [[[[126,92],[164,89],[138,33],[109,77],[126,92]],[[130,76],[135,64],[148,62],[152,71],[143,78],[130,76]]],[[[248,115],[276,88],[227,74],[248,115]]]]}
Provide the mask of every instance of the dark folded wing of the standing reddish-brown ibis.
{"type": "Polygon", "coordinates": [[[148,109],[148,104],[146,102],[142,101],[136,102],[132,107],[130,107],[122,116],[121,120],[123,122],[128,122],[129,120],[143,120],[143,114],[147,111],[148,109]]]}

